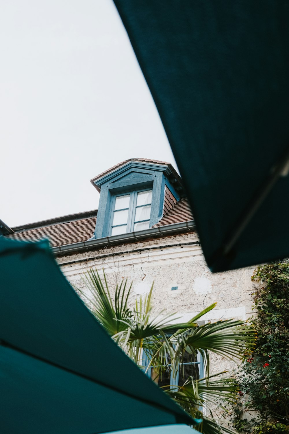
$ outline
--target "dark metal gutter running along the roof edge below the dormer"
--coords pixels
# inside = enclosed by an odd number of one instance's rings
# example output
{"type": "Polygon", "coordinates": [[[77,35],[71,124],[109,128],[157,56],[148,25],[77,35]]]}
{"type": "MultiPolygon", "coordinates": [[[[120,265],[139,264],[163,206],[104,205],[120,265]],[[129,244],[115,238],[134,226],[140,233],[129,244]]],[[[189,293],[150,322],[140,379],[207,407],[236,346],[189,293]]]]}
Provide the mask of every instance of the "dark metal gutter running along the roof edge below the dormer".
{"type": "Polygon", "coordinates": [[[151,237],[168,237],[176,233],[195,231],[195,220],[185,221],[165,226],[151,227],[150,229],[137,232],[123,233],[111,237],[98,238],[97,240],[81,241],[81,243],[66,244],[64,246],[52,247],[55,256],[64,256],[71,253],[87,252],[100,249],[101,247],[115,246],[116,244],[135,243],[151,237]]]}

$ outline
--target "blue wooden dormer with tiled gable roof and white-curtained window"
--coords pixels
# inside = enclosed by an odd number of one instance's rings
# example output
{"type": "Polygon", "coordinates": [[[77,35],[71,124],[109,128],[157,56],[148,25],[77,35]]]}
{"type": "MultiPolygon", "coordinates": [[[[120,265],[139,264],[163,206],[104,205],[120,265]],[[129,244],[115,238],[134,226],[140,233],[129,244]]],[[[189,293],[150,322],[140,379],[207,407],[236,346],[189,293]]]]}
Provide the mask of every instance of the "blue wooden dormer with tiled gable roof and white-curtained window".
{"type": "Polygon", "coordinates": [[[184,196],[171,164],[132,158],[91,180],[100,192],[93,238],[146,230],[184,196]]]}

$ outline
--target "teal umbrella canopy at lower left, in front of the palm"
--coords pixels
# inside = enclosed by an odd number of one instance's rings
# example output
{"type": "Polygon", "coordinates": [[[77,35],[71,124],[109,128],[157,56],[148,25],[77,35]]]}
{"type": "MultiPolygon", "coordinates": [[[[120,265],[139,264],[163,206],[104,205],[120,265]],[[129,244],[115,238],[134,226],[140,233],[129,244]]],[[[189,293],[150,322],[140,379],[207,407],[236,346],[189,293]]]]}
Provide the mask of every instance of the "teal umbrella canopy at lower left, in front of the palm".
{"type": "Polygon", "coordinates": [[[104,332],[48,243],[1,237],[0,276],[1,433],[93,434],[192,423],[104,332]]]}

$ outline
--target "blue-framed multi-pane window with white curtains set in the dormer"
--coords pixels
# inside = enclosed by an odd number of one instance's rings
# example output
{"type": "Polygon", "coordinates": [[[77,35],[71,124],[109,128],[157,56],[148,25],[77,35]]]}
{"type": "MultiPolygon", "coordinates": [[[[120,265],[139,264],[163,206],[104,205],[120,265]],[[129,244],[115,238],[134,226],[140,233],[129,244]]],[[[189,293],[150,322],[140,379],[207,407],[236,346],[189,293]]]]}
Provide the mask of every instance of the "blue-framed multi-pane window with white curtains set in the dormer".
{"type": "Polygon", "coordinates": [[[142,189],[115,194],[112,198],[109,235],[148,229],[152,193],[151,189],[142,189]]]}

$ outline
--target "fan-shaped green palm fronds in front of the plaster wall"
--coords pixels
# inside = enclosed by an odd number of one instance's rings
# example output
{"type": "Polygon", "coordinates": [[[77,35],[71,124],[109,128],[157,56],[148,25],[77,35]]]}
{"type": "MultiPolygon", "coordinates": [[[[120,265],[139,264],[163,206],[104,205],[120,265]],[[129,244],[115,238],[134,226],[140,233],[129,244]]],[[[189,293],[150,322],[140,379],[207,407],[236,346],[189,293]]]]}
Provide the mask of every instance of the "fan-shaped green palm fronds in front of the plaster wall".
{"type": "Polygon", "coordinates": [[[206,418],[200,408],[221,399],[235,401],[237,382],[234,378],[224,378],[224,372],[210,375],[209,351],[223,357],[241,358],[244,351],[252,349],[255,341],[253,329],[242,321],[225,320],[199,326],[196,321],[213,309],[216,303],[204,309],[186,323],[171,325],[172,316],[159,312],[153,315],[152,292],[136,299],[131,309],[128,304],[130,289],[127,281],[110,289],[104,275],[101,280],[97,271],[91,270],[84,275],[84,283],[90,292],[78,291],[88,300],[88,307],[112,339],[137,364],[142,366],[142,352],[150,359],[150,366],[161,377],[164,372],[175,376],[185,353],[194,358],[200,352],[205,364],[206,377],[189,377],[177,390],[164,387],[164,391],[181,405],[192,418],[200,421],[194,426],[205,434],[232,433],[221,427],[213,418],[206,418]],[[114,297],[110,296],[114,291],[114,297]]]}

